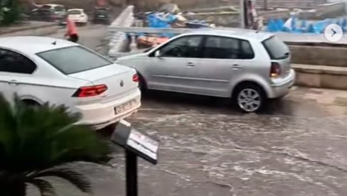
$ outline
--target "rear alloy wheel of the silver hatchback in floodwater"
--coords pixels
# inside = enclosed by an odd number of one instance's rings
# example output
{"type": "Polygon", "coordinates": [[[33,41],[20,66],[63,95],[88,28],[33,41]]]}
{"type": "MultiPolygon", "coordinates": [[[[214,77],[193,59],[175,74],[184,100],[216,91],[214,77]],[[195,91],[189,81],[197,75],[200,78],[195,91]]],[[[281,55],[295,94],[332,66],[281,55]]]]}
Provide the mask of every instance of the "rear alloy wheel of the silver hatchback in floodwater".
{"type": "Polygon", "coordinates": [[[260,109],[262,97],[255,89],[242,89],[237,96],[238,106],[247,112],[254,112],[260,109]]]}

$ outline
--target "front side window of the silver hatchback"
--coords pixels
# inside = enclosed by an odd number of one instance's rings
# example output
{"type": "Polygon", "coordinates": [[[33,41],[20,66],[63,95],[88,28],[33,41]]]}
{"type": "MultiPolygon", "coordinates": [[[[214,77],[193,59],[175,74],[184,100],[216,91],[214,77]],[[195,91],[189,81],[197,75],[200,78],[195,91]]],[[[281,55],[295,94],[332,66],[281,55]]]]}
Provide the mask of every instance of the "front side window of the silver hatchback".
{"type": "Polygon", "coordinates": [[[198,58],[203,36],[186,36],[171,41],[160,49],[162,57],[198,58]]]}

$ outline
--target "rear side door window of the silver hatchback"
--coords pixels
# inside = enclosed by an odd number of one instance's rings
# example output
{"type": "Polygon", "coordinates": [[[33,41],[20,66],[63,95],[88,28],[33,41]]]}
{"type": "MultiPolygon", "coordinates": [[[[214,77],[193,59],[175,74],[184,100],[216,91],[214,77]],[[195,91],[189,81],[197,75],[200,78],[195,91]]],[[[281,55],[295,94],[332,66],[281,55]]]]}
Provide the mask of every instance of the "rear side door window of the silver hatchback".
{"type": "Polygon", "coordinates": [[[254,53],[247,40],[208,36],[205,40],[203,58],[252,59],[254,53]]]}

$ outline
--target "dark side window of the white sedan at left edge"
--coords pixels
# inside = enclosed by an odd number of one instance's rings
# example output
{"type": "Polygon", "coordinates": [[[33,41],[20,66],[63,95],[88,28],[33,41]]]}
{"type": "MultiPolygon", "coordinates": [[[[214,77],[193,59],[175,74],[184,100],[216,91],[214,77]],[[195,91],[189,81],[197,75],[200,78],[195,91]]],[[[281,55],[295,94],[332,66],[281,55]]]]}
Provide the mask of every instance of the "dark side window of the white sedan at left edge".
{"type": "Polygon", "coordinates": [[[0,49],[0,72],[31,74],[36,70],[33,61],[10,50],[0,49]]]}

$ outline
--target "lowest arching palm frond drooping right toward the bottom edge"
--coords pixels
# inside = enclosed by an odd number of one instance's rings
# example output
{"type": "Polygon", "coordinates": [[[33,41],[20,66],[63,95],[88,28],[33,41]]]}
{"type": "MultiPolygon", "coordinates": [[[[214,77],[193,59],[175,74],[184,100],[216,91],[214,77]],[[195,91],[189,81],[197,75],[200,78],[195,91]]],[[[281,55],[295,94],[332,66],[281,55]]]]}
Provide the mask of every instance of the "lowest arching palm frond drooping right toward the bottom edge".
{"type": "Polygon", "coordinates": [[[68,180],[71,184],[78,187],[79,190],[86,193],[92,193],[92,185],[87,178],[74,170],[69,168],[55,167],[48,170],[43,170],[40,173],[36,173],[31,178],[43,178],[43,177],[58,177],[64,180],[68,180]]]}

